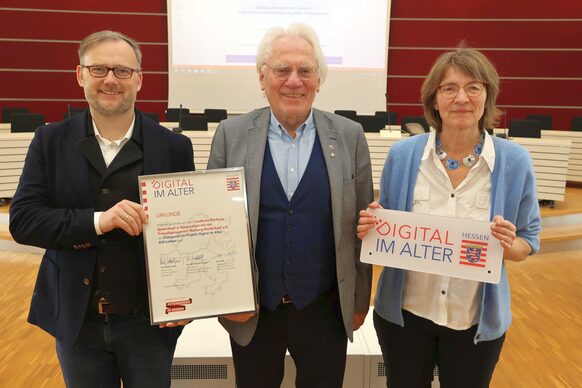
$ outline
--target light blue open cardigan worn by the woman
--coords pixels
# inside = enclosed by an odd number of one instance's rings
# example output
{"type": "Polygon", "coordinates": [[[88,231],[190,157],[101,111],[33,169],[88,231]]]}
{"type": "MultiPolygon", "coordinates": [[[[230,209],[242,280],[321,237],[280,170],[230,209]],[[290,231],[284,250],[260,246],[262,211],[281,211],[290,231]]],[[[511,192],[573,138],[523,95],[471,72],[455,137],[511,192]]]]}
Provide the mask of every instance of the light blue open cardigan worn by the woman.
{"type": "MultiPolygon", "coordinates": [[[[380,204],[386,209],[412,210],[414,186],[428,134],[394,143],[380,180],[380,204]]],[[[491,174],[491,214],[515,224],[517,235],[528,242],[531,254],[539,250],[540,210],[536,181],[527,150],[507,140],[493,138],[495,166],[491,174]]],[[[386,267],[380,275],[374,309],[382,318],[404,325],[402,291],[404,270],[386,267]]],[[[479,326],[474,341],[490,341],[505,333],[511,323],[509,283],[505,263],[499,284],[484,283],[479,326]]]]}

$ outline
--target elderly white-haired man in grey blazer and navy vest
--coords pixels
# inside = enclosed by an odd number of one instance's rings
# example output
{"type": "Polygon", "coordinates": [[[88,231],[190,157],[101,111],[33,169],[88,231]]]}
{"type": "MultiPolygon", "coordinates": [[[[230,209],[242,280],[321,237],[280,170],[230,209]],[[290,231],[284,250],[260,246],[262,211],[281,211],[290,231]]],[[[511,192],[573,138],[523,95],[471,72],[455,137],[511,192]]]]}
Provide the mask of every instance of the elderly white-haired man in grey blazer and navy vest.
{"type": "Polygon", "coordinates": [[[266,108],[220,123],[208,168],[245,168],[258,314],[221,318],[239,388],[341,387],[348,338],[369,306],[358,209],[373,198],[362,127],[313,108],[327,66],[304,24],[267,32],[257,54],[266,108]]]}

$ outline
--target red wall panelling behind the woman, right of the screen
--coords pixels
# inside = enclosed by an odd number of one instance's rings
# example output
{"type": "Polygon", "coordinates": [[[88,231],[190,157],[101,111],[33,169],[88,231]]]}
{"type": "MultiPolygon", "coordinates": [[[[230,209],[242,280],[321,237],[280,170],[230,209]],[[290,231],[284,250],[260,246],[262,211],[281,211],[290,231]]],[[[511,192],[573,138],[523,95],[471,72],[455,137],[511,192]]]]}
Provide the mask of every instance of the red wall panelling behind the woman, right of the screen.
{"type": "Polygon", "coordinates": [[[443,50],[466,40],[498,69],[505,120],[551,114],[555,128],[567,129],[582,115],[582,2],[421,3],[392,1],[388,109],[420,114],[423,77],[443,50]]]}

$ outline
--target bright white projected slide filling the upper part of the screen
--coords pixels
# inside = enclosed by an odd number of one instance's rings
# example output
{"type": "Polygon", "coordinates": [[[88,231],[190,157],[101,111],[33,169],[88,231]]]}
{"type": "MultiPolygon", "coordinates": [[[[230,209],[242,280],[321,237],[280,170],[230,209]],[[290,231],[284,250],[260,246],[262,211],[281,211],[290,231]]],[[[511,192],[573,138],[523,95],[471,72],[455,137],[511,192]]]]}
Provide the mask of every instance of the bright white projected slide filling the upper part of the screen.
{"type": "Polygon", "coordinates": [[[385,66],[386,6],[370,0],[174,0],[172,63],[176,68],[254,66],[265,31],[293,22],[314,26],[330,67],[385,66]],[[365,28],[348,29],[363,22],[350,21],[362,14],[365,28]],[[362,52],[362,46],[379,49],[362,52]]]}

